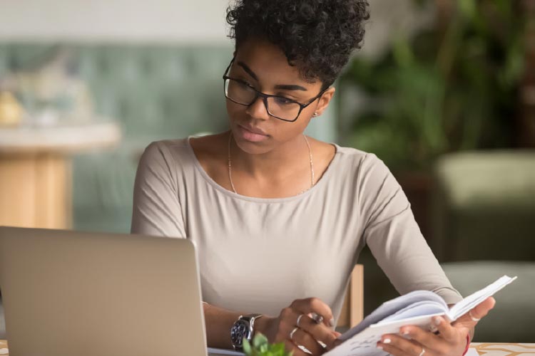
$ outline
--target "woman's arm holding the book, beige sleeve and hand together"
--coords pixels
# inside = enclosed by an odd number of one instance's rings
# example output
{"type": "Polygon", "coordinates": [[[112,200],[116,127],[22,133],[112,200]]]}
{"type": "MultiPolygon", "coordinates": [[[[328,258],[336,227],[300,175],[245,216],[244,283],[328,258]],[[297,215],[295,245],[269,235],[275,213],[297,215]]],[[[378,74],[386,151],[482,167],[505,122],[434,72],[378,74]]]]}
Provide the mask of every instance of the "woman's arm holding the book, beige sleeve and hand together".
{"type": "MultiPolygon", "coordinates": [[[[399,293],[432,290],[451,305],[462,299],[449,283],[414,221],[409,201],[387,167],[375,157],[359,177],[359,209],[365,221],[364,239],[377,263],[399,293]]],[[[494,306],[489,298],[450,325],[436,318],[439,334],[407,325],[399,335],[383,335],[377,347],[395,356],[461,356],[472,340],[474,326],[494,306]],[[409,337],[409,340],[407,340],[409,337]]]]}

